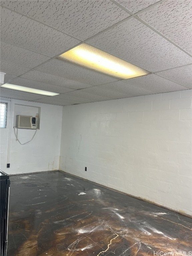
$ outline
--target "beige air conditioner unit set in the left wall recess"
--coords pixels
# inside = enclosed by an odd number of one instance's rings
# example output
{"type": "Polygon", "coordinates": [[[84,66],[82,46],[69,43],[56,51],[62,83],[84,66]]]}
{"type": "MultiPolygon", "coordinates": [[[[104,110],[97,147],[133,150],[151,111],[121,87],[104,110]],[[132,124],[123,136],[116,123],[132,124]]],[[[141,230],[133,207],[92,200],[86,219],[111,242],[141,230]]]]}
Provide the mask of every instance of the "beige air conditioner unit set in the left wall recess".
{"type": "Polygon", "coordinates": [[[37,129],[37,117],[16,116],[16,127],[22,129],[37,129]]]}

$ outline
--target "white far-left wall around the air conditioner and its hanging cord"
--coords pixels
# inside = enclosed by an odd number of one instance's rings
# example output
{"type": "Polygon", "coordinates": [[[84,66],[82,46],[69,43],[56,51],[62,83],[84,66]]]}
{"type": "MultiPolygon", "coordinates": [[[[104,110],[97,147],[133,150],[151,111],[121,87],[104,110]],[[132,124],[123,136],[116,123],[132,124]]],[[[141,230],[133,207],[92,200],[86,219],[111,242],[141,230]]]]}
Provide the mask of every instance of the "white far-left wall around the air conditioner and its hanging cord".
{"type": "MultiPolygon", "coordinates": [[[[1,101],[8,102],[8,115],[7,128],[0,129],[0,169],[8,174],[59,169],[62,107],[13,99],[1,101]],[[35,116],[39,109],[40,129],[30,143],[20,145],[13,129],[16,115],[35,116]],[[10,168],[7,168],[7,163],[10,163],[10,168]]],[[[18,129],[18,138],[21,143],[27,142],[34,132],[18,129]]]]}

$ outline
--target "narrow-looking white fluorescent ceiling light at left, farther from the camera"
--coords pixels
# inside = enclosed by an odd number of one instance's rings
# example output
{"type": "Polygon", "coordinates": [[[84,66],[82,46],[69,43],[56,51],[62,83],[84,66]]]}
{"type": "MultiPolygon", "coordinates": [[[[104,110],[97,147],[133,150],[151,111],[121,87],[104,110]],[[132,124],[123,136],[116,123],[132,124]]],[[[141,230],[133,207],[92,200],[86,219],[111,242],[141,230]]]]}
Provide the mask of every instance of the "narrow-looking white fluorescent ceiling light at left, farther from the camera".
{"type": "Polygon", "coordinates": [[[47,91],[43,91],[43,90],[38,90],[38,89],[34,89],[34,88],[24,87],[24,86],[20,86],[20,85],[16,85],[16,84],[8,84],[8,83],[1,85],[1,87],[13,89],[13,90],[17,90],[17,91],[42,94],[42,95],[46,95],[46,96],[55,96],[55,95],[59,94],[59,93],[55,93],[55,92],[47,92],[47,91]]]}

